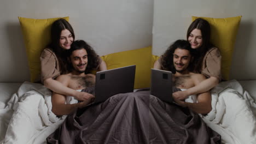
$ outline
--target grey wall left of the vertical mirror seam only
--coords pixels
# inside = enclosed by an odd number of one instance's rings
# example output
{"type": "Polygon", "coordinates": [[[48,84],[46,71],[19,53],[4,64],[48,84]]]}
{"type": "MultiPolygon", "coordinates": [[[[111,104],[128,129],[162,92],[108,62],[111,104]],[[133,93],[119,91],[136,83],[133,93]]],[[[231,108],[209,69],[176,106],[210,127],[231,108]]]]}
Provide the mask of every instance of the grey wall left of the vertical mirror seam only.
{"type": "Polygon", "coordinates": [[[69,16],[76,39],[99,55],[152,45],[153,0],[8,0],[0,2],[0,82],[30,80],[18,16],[69,16]]]}

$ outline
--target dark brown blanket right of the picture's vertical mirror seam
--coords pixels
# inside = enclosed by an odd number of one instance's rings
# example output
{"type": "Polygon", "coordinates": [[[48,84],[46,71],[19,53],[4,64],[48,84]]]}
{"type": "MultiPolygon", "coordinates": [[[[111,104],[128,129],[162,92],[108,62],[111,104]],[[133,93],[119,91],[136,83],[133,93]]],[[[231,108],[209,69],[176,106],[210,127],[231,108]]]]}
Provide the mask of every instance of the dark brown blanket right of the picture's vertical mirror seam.
{"type": "Polygon", "coordinates": [[[187,108],[167,104],[153,95],[149,108],[149,143],[221,143],[220,135],[187,108]]]}

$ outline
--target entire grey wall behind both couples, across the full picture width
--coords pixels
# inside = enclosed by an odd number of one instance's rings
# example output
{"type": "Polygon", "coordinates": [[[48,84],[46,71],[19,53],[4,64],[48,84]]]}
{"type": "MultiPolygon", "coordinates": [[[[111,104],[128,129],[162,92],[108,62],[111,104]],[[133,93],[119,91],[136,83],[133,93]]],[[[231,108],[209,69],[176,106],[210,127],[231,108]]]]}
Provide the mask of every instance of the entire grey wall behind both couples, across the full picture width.
{"type": "Polygon", "coordinates": [[[161,55],[174,40],[185,39],[192,15],[216,18],[242,15],[230,77],[256,80],[254,5],[254,0],[1,1],[0,82],[30,80],[18,16],[34,19],[69,16],[76,39],[88,41],[99,55],[149,46],[152,39],[153,54],[161,55]]]}

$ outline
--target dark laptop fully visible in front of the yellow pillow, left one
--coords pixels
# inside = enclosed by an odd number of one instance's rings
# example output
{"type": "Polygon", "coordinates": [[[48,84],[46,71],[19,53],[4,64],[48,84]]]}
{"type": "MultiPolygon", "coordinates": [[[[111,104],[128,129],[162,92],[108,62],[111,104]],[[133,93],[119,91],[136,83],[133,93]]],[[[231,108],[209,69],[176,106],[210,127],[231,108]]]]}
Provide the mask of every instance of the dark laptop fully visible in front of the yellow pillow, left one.
{"type": "Polygon", "coordinates": [[[100,103],[119,93],[133,92],[136,65],[98,71],[94,103],[100,103]]]}

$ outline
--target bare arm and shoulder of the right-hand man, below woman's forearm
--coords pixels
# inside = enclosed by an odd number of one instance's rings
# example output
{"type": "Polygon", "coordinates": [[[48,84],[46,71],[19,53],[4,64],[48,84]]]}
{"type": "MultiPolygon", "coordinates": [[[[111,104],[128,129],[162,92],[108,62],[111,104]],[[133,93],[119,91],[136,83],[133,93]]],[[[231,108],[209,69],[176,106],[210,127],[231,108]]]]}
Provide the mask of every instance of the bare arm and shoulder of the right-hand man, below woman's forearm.
{"type": "MultiPolygon", "coordinates": [[[[192,80],[195,86],[197,86],[201,81],[205,80],[205,76],[201,74],[195,74],[192,77],[192,80]]],[[[196,113],[207,114],[212,110],[212,104],[211,104],[212,97],[209,91],[198,94],[197,103],[186,103],[185,101],[178,100],[177,98],[174,98],[174,97],[173,99],[174,101],[176,101],[177,104],[183,107],[189,107],[189,109],[191,109],[196,113]]]]}

